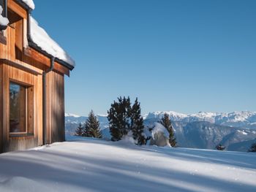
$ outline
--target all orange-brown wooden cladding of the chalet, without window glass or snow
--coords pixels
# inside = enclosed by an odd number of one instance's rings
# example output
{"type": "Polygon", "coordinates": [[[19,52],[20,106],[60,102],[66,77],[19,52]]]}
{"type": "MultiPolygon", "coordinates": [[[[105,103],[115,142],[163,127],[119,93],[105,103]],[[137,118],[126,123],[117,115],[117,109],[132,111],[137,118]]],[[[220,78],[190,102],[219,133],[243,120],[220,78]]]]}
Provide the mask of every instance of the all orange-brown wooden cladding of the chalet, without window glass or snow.
{"type": "MultiPolygon", "coordinates": [[[[42,145],[42,72],[50,67],[50,58],[28,46],[26,10],[14,0],[8,0],[8,10],[19,15],[15,25],[4,31],[6,44],[0,42],[0,153],[23,150],[42,145]],[[17,80],[34,89],[33,134],[10,134],[9,83],[17,80]]],[[[64,74],[69,69],[54,63],[54,71],[47,74],[47,142],[63,142],[64,137],[64,74]]]]}

